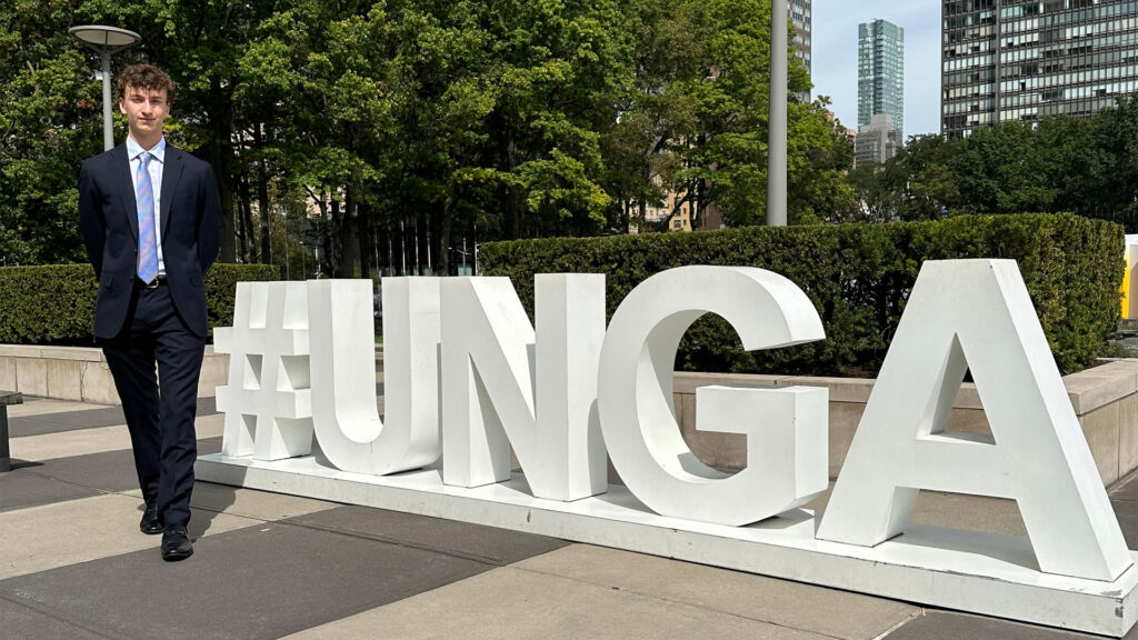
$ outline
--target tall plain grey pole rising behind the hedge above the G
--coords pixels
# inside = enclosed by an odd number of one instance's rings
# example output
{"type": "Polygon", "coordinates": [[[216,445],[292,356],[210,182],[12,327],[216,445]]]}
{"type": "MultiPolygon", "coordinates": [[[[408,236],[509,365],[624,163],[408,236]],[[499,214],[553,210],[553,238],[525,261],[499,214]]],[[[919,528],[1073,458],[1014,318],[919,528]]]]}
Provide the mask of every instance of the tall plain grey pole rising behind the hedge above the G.
{"type": "Polygon", "coordinates": [[[767,140],[767,225],[786,225],[786,0],[770,1],[770,121],[767,140]]]}

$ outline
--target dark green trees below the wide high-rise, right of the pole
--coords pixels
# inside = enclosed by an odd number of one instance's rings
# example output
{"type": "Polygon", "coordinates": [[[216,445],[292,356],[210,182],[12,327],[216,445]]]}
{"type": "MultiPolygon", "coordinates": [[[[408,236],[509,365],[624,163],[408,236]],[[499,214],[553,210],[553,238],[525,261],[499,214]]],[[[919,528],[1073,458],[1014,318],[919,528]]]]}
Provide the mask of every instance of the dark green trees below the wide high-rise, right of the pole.
{"type": "Polygon", "coordinates": [[[848,181],[860,216],[935,220],[964,213],[1072,212],[1138,229],[1138,96],[1090,118],[1048,117],[918,136],[848,181]]]}

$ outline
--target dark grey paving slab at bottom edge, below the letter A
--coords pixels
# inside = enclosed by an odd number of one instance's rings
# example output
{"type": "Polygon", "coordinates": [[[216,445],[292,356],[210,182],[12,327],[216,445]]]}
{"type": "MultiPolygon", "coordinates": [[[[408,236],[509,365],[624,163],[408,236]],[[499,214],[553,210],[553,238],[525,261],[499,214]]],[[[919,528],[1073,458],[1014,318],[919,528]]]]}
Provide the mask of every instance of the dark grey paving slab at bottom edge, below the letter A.
{"type": "MultiPolygon", "coordinates": [[[[1092,640],[1100,635],[1088,635],[1061,629],[1049,629],[1005,620],[980,617],[955,612],[930,610],[924,616],[885,635],[888,640],[962,640],[965,638],[999,640],[1092,640]]],[[[1136,631],[1125,635],[1127,640],[1138,638],[1136,631]]]]}

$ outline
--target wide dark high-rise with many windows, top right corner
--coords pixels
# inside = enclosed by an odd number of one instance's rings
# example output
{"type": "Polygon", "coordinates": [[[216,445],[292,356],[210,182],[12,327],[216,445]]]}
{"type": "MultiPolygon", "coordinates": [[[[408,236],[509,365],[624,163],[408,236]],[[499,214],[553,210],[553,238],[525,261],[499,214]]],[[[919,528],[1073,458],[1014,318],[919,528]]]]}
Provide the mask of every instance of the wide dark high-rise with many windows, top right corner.
{"type": "Polygon", "coordinates": [[[941,132],[1087,117],[1138,91],[1133,0],[943,0],[941,132]]]}

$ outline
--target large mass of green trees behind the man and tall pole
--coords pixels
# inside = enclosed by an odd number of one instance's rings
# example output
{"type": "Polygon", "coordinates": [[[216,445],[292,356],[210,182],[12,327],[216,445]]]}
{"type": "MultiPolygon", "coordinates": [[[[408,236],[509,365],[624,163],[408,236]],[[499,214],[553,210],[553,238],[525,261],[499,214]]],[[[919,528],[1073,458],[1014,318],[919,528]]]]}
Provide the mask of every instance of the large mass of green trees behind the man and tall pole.
{"type": "MultiPolygon", "coordinates": [[[[9,264],[83,260],[75,182],[101,148],[101,90],[76,24],[142,36],[115,71],[173,76],[167,136],[214,167],[224,261],[448,272],[464,240],[626,232],[669,192],[696,224],[711,206],[765,218],[762,0],[15,0],[0,6],[9,264]]],[[[791,92],[809,89],[790,72],[791,92]]],[[[848,213],[838,131],[824,101],[791,106],[792,222],[848,213]]]]}

